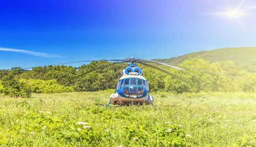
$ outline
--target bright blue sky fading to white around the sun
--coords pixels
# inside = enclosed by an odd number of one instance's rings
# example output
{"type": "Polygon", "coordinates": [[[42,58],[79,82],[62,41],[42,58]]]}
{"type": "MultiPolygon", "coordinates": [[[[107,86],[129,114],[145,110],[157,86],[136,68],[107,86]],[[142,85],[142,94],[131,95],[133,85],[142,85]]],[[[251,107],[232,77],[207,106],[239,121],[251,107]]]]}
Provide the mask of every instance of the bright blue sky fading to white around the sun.
{"type": "Polygon", "coordinates": [[[256,46],[249,0],[0,3],[0,69],[256,46]]]}

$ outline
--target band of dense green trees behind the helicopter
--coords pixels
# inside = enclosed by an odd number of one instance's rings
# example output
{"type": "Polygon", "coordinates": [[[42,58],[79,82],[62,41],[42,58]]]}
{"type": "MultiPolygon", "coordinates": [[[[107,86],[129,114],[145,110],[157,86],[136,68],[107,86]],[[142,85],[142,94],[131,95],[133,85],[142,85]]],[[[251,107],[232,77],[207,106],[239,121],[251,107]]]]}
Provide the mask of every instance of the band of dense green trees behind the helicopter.
{"type": "MultiPolygon", "coordinates": [[[[0,93],[13,97],[30,97],[31,93],[85,92],[115,89],[120,78],[120,70],[127,67],[125,63],[112,65],[85,76],[74,78],[76,75],[107,64],[110,63],[107,61],[91,62],[88,65],[80,66],[78,70],[72,66],[63,65],[36,67],[31,71],[1,70],[0,93]]],[[[194,69],[179,71],[157,65],[161,69],[192,83],[189,84],[141,64],[137,66],[142,69],[143,76],[147,79],[151,92],[256,92],[256,73],[247,72],[236,66],[232,61],[210,64],[202,58],[194,57],[188,58],[180,65],[245,78],[252,80],[252,82],[194,69]]]]}

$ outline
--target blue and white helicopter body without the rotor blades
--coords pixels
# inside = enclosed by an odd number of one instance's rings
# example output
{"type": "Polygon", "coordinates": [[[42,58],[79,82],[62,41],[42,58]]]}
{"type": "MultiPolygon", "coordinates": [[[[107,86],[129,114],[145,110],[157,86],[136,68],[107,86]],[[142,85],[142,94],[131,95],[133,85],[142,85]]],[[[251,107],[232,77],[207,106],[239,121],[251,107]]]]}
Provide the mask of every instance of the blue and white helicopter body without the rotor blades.
{"type": "Polygon", "coordinates": [[[135,65],[130,65],[121,72],[116,92],[110,96],[111,104],[152,104],[154,98],[149,95],[149,86],[142,76],[142,71],[135,65]]]}

